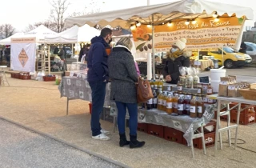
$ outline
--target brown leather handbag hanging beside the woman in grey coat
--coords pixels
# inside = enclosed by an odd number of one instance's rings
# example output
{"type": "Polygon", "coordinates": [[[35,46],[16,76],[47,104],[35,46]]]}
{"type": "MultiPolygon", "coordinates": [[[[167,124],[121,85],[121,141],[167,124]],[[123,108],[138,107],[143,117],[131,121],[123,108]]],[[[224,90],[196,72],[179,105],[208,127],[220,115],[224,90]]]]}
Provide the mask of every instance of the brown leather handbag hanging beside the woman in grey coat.
{"type": "Polygon", "coordinates": [[[150,82],[148,80],[143,80],[138,78],[138,91],[137,91],[137,101],[146,102],[150,98],[154,98],[152,90],[150,87],[150,82]]]}

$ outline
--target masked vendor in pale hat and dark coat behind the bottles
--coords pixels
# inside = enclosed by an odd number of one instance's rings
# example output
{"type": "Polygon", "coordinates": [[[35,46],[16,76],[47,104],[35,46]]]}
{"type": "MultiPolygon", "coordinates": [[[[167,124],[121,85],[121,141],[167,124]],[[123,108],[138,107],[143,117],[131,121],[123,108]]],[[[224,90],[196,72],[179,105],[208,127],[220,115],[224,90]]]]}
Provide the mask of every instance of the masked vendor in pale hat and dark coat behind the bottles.
{"type": "Polygon", "coordinates": [[[166,64],[162,70],[166,82],[177,84],[180,76],[179,67],[190,67],[192,52],[186,50],[186,38],[181,38],[173,43],[170,52],[166,53],[166,64]]]}

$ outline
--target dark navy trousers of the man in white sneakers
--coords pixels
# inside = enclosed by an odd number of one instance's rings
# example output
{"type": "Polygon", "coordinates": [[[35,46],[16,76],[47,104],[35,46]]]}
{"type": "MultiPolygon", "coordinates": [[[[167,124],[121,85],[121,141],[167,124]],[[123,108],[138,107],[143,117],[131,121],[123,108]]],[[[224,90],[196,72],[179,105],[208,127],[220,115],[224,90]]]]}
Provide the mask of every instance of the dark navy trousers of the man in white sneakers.
{"type": "Polygon", "coordinates": [[[99,123],[100,115],[103,110],[106,82],[96,81],[89,82],[92,97],[92,113],[90,118],[90,127],[93,136],[101,134],[101,124],[99,123]]]}

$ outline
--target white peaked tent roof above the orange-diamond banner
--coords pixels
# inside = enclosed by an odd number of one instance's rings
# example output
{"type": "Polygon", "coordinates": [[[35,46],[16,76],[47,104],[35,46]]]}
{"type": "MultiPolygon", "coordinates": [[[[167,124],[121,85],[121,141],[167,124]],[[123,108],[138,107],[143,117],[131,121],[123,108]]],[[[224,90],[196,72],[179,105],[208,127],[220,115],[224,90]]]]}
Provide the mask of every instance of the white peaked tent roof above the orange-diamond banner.
{"type": "Polygon", "coordinates": [[[45,42],[46,35],[53,34],[57,33],[48,29],[46,26],[41,25],[18,38],[36,38],[36,42],[43,43],[45,42]]]}

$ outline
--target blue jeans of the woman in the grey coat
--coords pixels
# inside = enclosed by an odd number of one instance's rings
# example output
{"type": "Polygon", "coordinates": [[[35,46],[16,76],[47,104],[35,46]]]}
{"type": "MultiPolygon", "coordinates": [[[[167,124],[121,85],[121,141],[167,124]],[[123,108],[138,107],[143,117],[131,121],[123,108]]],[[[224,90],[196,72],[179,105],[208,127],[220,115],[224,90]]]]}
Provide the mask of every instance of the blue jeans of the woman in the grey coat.
{"type": "Polygon", "coordinates": [[[130,116],[129,128],[130,135],[137,135],[138,126],[138,105],[137,103],[115,102],[118,107],[118,130],[119,134],[125,134],[126,131],[126,107],[130,116]]]}

